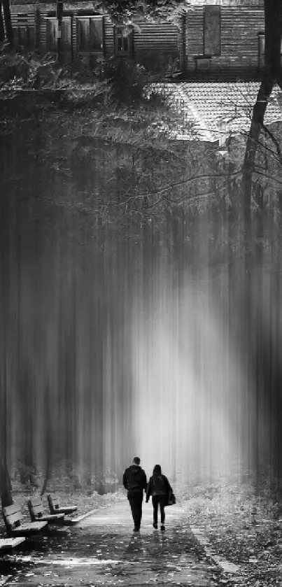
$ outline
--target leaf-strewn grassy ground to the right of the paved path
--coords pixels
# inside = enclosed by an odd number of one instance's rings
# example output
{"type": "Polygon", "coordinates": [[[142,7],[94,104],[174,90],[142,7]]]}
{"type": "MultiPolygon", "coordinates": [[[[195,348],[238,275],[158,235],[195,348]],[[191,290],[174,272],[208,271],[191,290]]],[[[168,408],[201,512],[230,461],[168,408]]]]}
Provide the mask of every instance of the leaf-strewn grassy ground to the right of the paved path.
{"type": "Polygon", "coordinates": [[[188,523],[202,530],[218,556],[239,565],[232,585],[281,585],[280,504],[269,481],[210,483],[183,493],[188,523]]]}

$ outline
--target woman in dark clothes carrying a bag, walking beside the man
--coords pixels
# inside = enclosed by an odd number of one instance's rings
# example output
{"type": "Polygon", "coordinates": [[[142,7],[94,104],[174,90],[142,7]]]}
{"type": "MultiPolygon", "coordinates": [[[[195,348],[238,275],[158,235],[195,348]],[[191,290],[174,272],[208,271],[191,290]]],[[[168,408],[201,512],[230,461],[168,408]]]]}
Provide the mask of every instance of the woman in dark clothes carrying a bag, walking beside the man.
{"type": "Polygon", "coordinates": [[[155,465],[153,469],[153,475],[149,479],[147,491],[146,491],[146,503],[149,501],[150,495],[152,495],[153,502],[153,527],[157,530],[157,510],[160,506],[160,523],[161,530],[165,530],[164,520],[165,513],[164,507],[167,505],[169,494],[172,493],[169,480],[165,475],[162,474],[162,468],[160,465],[155,465]]]}

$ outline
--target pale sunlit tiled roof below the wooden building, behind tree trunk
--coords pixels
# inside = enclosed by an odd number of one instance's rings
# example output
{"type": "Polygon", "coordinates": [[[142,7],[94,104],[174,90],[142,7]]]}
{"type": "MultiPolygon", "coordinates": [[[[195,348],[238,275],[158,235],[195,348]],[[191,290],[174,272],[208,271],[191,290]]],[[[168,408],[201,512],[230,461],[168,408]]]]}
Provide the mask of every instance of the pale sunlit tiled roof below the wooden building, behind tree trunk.
{"type": "MultiPolygon", "coordinates": [[[[224,143],[230,133],[248,132],[259,87],[258,82],[183,82],[156,83],[151,90],[164,94],[167,103],[183,116],[182,128],[174,138],[224,143]]],[[[279,120],[282,92],[276,86],[267,104],[265,124],[279,120]]]]}

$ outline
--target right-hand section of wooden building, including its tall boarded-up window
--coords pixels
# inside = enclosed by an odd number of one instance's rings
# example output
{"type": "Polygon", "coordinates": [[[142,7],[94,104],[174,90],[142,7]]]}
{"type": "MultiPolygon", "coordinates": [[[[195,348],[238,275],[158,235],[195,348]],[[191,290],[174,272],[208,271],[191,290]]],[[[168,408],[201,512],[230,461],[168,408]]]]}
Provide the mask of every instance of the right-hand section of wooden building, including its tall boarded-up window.
{"type": "Polygon", "coordinates": [[[260,0],[197,1],[185,18],[190,72],[258,72],[264,65],[265,17],[260,0]],[[200,6],[201,5],[201,6],[200,6]]]}

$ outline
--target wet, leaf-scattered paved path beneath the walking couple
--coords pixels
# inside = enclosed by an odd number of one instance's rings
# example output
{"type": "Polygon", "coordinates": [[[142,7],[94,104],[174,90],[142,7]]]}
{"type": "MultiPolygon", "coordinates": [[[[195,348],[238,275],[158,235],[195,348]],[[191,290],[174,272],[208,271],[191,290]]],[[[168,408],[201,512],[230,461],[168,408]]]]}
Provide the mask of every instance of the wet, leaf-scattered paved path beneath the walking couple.
{"type": "Polygon", "coordinates": [[[166,531],[153,529],[152,504],[143,504],[140,534],[127,500],[100,509],[79,525],[55,530],[10,557],[6,586],[205,587],[218,584],[215,567],[189,529],[183,510],[166,508],[166,531]],[[35,550],[36,549],[36,550],[35,550]]]}

